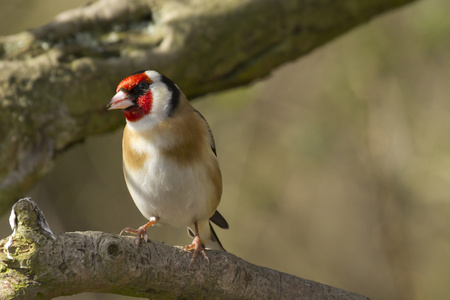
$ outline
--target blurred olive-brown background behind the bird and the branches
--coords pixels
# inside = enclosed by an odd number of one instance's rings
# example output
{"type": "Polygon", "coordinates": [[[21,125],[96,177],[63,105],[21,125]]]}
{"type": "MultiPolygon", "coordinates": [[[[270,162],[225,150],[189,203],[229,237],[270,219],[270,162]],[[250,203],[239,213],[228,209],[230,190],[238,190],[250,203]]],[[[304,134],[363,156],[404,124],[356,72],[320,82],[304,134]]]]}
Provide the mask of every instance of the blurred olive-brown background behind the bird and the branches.
{"type": "MultiPolygon", "coordinates": [[[[0,1],[0,34],[83,3],[0,1]]],[[[372,299],[450,299],[449,16],[448,0],[415,3],[194,102],[216,138],[229,252],[372,299]]],[[[145,222],[122,177],[121,136],[76,145],[29,192],[54,232],[145,222]]],[[[150,237],[190,242],[169,226],[150,237]]]]}

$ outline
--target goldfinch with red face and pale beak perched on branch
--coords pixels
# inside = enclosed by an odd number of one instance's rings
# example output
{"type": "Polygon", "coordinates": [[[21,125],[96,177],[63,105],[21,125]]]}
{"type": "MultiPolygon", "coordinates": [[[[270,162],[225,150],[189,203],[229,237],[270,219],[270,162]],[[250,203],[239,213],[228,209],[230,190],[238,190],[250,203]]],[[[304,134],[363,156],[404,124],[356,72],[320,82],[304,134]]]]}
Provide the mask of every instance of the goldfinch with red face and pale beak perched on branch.
{"type": "Polygon", "coordinates": [[[211,222],[228,229],[217,211],[222,175],[214,137],[203,115],[163,74],[139,71],[123,79],[108,110],[126,119],[122,139],[123,173],[131,197],[148,222],[122,233],[136,235],[139,246],[157,223],[187,226],[193,238],[184,247],[209,262],[205,248],[225,251],[211,222]]]}

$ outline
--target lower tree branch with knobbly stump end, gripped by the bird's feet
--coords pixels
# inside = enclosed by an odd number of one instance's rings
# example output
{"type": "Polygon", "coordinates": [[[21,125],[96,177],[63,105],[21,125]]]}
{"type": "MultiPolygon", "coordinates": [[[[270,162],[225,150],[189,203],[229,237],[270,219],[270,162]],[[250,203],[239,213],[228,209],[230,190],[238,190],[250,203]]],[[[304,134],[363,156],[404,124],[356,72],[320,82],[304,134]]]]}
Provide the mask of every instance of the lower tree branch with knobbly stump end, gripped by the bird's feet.
{"type": "Polygon", "coordinates": [[[0,298],[51,299],[103,292],[152,299],[368,299],[325,284],[209,250],[210,264],[181,247],[103,232],[53,235],[30,198],[10,218],[0,241],[0,298]]]}

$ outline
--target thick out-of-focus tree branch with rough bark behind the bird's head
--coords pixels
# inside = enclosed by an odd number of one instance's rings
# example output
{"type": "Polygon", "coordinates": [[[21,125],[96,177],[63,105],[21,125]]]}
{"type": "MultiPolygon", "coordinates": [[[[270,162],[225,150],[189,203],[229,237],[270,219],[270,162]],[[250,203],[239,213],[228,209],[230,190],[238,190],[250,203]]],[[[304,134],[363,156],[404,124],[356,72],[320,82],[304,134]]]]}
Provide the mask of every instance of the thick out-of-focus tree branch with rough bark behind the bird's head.
{"type": "Polygon", "coordinates": [[[247,84],[413,0],[100,0],[0,37],[0,213],[89,135],[123,123],[105,104],[156,69],[189,97],[247,84]]]}

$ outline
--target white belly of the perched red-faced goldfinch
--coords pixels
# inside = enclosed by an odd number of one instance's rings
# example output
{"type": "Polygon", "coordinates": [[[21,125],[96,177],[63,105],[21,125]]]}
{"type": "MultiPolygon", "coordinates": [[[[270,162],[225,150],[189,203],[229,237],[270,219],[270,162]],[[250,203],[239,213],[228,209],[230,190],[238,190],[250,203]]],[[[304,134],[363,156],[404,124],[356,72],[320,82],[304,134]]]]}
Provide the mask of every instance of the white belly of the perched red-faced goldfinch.
{"type": "Polygon", "coordinates": [[[200,162],[180,165],[151,152],[151,159],[138,170],[124,165],[128,190],[140,212],[173,226],[211,217],[218,200],[207,167],[200,162]]]}

